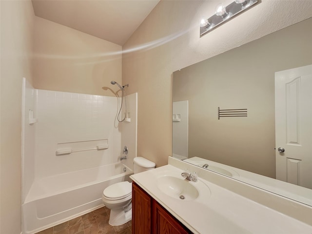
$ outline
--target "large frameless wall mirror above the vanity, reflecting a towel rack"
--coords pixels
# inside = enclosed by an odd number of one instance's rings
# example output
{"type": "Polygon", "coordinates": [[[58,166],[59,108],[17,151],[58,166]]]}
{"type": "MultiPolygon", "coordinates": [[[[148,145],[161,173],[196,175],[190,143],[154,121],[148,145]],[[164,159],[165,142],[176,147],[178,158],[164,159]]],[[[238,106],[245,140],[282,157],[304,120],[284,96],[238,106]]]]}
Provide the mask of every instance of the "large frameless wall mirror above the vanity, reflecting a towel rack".
{"type": "MultiPolygon", "coordinates": [[[[251,184],[253,180],[240,172],[251,172],[251,177],[261,175],[264,179],[260,179],[260,183],[267,181],[272,187],[277,181],[276,173],[283,167],[289,175],[296,174],[296,181],[288,181],[292,183],[290,186],[282,182],[282,188],[273,192],[312,206],[312,86],[299,84],[301,75],[291,74],[295,77],[280,88],[288,92],[282,94],[288,102],[275,100],[276,76],[284,76],[278,72],[292,69],[292,73],[301,67],[311,72],[311,64],[312,18],[174,72],[173,156],[198,166],[203,166],[199,161],[215,162],[215,165],[207,163],[206,168],[211,170],[214,166],[220,169],[220,165],[227,165],[228,168],[223,168],[226,170],[222,169],[224,175],[230,172],[233,177],[251,184]],[[305,122],[299,116],[303,109],[299,110],[296,104],[303,99],[298,92],[304,89],[308,98],[306,106],[300,108],[310,108],[310,114],[304,114],[308,116],[305,122]],[[289,145],[300,145],[303,131],[311,137],[305,160],[287,156],[289,150],[275,144],[275,124],[284,121],[278,118],[275,122],[275,108],[279,106],[288,108],[287,124],[291,130],[287,130],[286,135],[292,138],[289,145]],[[218,107],[234,110],[234,114],[238,109],[247,109],[242,110],[243,114],[247,112],[247,117],[232,115],[230,111],[232,117],[218,119],[218,107]],[[278,152],[278,148],[280,151],[284,148],[285,152],[278,152]],[[278,157],[283,160],[282,166],[278,157]],[[306,161],[310,165],[305,166],[306,161]],[[303,176],[307,176],[304,183],[301,182],[303,176]]],[[[312,80],[311,76],[304,76],[312,80]]],[[[282,177],[278,179],[289,179],[282,177]]],[[[256,186],[261,187],[259,183],[256,186]]],[[[270,186],[264,189],[271,190],[270,186]]]]}

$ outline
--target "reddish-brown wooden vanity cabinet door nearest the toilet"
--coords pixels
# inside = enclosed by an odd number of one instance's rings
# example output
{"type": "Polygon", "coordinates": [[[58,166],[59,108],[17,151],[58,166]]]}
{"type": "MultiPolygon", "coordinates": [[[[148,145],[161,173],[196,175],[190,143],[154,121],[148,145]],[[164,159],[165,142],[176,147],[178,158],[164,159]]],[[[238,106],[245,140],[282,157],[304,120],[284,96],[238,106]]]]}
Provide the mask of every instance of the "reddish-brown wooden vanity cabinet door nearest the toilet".
{"type": "Polygon", "coordinates": [[[132,234],[151,234],[152,198],[132,183],[132,234]]]}

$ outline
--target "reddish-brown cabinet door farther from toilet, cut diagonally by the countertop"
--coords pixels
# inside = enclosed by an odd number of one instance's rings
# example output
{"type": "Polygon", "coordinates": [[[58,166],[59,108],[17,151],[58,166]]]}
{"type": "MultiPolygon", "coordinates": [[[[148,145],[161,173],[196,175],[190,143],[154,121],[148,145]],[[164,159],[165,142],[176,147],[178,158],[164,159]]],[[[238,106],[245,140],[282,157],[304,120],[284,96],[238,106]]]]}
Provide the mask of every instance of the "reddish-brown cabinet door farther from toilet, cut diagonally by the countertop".
{"type": "Polygon", "coordinates": [[[153,234],[191,234],[183,224],[153,199],[153,234]]]}

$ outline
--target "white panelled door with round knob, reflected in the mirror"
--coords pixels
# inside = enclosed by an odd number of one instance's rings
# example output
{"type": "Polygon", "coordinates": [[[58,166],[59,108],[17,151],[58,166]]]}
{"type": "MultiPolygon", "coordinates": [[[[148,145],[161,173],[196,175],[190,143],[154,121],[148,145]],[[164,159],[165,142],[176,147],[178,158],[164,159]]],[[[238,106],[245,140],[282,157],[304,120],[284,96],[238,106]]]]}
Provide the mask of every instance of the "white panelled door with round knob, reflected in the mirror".
{"type": "Polygon", "coordinates": [[[276,179],[312,189],[312,65],[275,73],[275,147],[276,179]]]}

